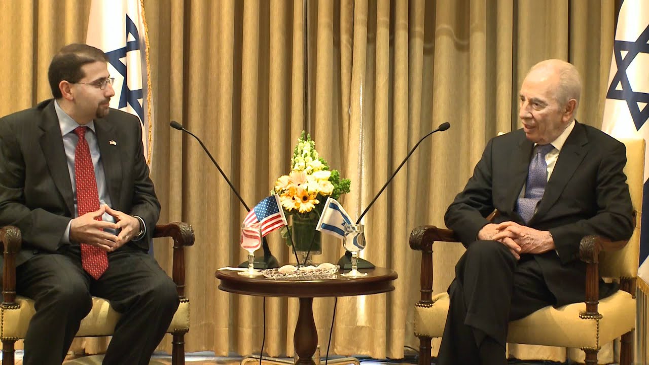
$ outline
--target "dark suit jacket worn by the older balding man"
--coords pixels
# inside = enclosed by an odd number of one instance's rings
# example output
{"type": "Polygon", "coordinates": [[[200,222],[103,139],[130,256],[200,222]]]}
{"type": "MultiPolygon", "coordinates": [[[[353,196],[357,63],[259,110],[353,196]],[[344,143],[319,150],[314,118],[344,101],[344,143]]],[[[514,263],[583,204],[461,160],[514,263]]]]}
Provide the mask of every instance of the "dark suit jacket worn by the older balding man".
{"type": "MultiPolygon", "coordinates": [[[[474,242],[497,208],[494,223],[515,221],[525,225],[515,211],[528,175],[533,142],[522,129],[489,141],[463,192],[448,207],[447,227],[465,245],[474,242]]],[[[583,301],[585,264],[578,260],[583,236],[598,234],[626,240],[633,231],[632,206],[626,175],[624,144],[593,127],[575,122],[536,214],[527,224],[550,231],[555,251],[534,255],[557,305],[583,301]],[[557,256],[558,253],[558,256],[557,256]]]]}

